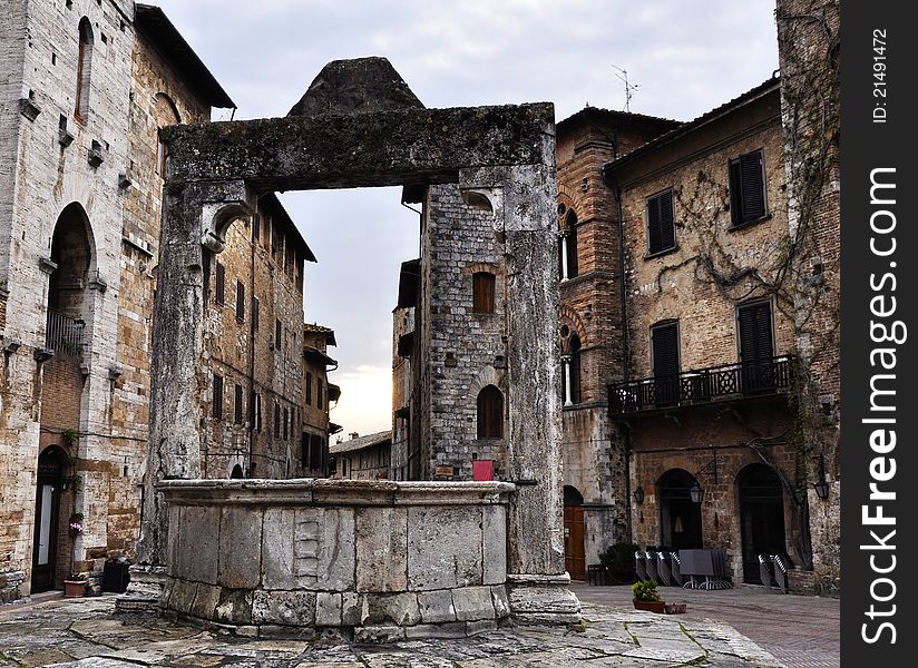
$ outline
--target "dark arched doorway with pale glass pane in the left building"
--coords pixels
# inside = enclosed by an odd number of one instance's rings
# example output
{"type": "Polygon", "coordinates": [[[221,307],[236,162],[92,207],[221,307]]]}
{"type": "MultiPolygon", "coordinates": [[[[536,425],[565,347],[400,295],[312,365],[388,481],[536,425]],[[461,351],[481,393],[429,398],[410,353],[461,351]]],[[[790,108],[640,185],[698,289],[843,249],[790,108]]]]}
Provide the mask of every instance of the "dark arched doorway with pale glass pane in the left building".
{"type": "Polygon", "coordinates": [[[35,538],[32,544],[32,593],[55,588],[60,524],[60,481],[66,455],[57,445],[38,456],[35,538]]]}

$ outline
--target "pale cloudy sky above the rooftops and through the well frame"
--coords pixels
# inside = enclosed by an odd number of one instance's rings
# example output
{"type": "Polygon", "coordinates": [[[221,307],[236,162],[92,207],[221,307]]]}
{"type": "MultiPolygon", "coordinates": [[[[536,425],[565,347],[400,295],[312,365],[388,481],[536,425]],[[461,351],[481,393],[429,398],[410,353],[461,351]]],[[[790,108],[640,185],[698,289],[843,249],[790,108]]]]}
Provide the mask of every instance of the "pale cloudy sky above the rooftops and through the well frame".
{"type": "MultiPolygon", "coordinates": [[[[389,58],[428,107],[551,101],[692,119],[778,67],[773,0],[152,0],[238,105],[284,116],[330,60],[389,58]]],[[[217,111],[216,119],[228,118],[217,111]]],[[[390,428],[391,311],[418,216],[398,188],[282,196],[319,264],[305,317],[335,330],[344,433],[390,428]]],[[[346,436],[345,436],[346,438],[346,436]]]]}

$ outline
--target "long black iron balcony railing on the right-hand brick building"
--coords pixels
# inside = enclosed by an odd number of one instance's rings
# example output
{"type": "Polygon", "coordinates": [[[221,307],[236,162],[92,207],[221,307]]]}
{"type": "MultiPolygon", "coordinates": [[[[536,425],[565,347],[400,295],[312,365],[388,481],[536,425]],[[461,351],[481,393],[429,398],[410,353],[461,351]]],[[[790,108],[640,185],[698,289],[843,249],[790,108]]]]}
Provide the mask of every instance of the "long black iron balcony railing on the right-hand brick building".
{"type": "Polygon", "coordinates": [[[609,411],[637,413],[778,394],[793,381],[794,357],[710,366],[608,386],[609,411]]]}

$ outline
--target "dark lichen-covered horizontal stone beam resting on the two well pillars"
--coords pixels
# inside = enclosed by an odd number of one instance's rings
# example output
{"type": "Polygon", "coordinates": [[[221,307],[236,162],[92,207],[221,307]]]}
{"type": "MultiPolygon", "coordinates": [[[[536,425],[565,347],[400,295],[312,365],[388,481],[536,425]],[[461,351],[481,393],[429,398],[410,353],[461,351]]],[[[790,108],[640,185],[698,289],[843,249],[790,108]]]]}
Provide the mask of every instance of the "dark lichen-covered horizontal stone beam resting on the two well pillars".
{"type": "Polygon", "coordinates": [[[550,102],[263,118],[163,129],[168,183],[261,191],[456,183],[460,169],[554,167],[550,102]],[[346,150],[342,150],[346,147],[346,150]]]}

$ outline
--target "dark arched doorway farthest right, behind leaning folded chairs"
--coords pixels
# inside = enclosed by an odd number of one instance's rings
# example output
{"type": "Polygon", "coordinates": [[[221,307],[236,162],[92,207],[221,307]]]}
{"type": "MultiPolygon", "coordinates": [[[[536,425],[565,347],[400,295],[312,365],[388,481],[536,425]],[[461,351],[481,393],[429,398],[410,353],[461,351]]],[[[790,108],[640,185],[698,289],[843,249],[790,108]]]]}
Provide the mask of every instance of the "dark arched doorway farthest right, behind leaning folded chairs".
{"type": "Polygon", "coordinates": [[[783,554],[784,498],[778,474],[765,464],[743,469],[739,478],[743,581],[762,584],[759,554],[783,554]]]}

